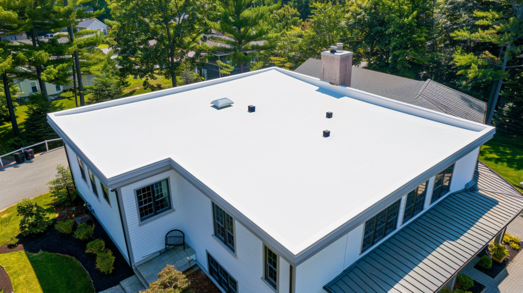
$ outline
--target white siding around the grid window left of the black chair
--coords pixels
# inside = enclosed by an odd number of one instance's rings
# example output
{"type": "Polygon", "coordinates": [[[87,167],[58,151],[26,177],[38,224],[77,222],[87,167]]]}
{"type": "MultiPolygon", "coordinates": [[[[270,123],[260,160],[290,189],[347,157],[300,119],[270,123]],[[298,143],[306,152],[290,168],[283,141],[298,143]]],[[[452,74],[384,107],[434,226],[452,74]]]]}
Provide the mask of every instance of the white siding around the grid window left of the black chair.
{"type": "Polygon", "coordinates": [[[165,235],[173,229],[183,230],[181,227],[180,201],[178,196],[177,174],[167,171],[153,177],[144,179],[121,187],[122,201],[129,228],[134,263],[140,263],[145,257],[165,249],[165,235]],[[138,207],[134,190],[140,187],[169,178],[170,197],[174,212],[169,210],[160,214],[145,224],[140,225],[138,207]]]}

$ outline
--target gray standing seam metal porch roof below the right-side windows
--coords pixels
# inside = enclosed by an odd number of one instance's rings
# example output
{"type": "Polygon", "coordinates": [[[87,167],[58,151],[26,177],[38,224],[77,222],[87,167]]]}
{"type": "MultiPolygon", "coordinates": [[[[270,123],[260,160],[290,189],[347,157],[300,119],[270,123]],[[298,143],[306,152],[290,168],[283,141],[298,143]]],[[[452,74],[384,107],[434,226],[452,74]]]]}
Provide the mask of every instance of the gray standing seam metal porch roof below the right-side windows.
{"type": "Polygon", "coordinates": [[[435,292],[523,208],[523,194],[478,161],[447,196],[324,286],[331,293],[435,292]]]}

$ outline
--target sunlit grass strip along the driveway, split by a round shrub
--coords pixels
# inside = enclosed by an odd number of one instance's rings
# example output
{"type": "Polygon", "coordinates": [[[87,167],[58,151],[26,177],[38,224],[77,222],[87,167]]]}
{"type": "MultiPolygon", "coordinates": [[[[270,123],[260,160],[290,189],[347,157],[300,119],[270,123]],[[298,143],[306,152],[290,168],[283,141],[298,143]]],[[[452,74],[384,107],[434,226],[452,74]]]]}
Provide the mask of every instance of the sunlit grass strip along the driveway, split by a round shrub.
{"type": "MultiPolygon", "coordinates": [[[[54,208],[51,206],[53,200],[50,193],[42,194],[35,197],[35,201],[39,206],[46,209],[49,218],[56,218],[54,208]]],[[[19,224],[21,216],[17,216],[16,205],[6,208],[0,212],[0,245],[5,244],[11,238],[20,233],[19,224]]]]}

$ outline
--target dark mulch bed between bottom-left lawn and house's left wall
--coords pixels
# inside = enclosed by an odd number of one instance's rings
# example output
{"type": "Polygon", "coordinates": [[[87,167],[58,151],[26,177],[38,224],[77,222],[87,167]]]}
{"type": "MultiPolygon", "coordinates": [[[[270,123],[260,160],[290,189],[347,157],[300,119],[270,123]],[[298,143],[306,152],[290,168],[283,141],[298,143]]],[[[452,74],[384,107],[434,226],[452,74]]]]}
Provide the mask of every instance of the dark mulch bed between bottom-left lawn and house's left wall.
{"type": "MultiPolygon", "coordinates": [[[[93,219],[95,224],[95,230],[93,238],[100,238],[105,241],[105,247],[112,251],[115,256],[115,269],[111,274],[104,274],[96,268],[96,255],[92,253],[85,253],[86,244],[88,241],[82,241],[73,237],[73,234],[65,235],[54,229],[56,219],[53,220],[53,224],[49,226],[47,231],[39,233],[37,235],[17,236],[19,239],[18,247],[15,249],[9,249],[6,245],[0,247],[0,253],[14,252],[16,250],[25,250],[31,253],[38,253],[40,250],[60,253],[69,256],[74,256],[89,273],[89,277],[93,280],[93,285],[96,291],[103,291],[120,284],[120,281],[134,275],[129,264],[121,255],[120,251],[116,248],[115,243],[109,238],[104,228],[98,223],[96,219],[93,219]]],[[[89,222],[89,224],[91,224],[89,222]]],[[[73,229],[73,231],[76,228],[73,229]]]]}

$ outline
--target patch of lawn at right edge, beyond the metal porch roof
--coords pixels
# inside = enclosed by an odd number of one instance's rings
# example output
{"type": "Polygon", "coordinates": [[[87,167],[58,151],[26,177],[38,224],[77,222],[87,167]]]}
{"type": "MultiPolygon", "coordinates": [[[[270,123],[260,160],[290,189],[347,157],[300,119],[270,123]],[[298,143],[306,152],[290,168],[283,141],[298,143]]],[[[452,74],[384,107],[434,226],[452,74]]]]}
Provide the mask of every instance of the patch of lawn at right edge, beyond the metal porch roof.
{"type": "Polygon", "coordinates": [[[481,147],[480,160],[518,187],[523,181],[523,137],[499,134],[481,147]]]}

